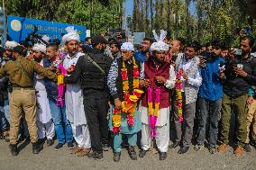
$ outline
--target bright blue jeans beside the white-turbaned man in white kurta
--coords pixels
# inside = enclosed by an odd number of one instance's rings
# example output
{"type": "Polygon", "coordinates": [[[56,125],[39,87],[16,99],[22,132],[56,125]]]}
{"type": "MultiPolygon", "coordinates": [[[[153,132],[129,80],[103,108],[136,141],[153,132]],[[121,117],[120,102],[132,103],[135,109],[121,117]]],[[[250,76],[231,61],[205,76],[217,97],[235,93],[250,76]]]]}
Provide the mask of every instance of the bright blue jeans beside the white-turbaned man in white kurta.
{"type": "Polygon", "coordinates": [[[50,103],[51,118],[54,123],[54,129],[56,131],[56,135],[59,143],[62,143],[62,144],[65,143],[65,135],[66,135],[66,141],[72,142],[73,134],[72,134],[70,122],[66,115],[65,106],[61,108],[56,105],[55,101],[49,101],[49,103],[50,103]],[[64,133],[64,127],[65,127],[65,133],[64,133]]]}

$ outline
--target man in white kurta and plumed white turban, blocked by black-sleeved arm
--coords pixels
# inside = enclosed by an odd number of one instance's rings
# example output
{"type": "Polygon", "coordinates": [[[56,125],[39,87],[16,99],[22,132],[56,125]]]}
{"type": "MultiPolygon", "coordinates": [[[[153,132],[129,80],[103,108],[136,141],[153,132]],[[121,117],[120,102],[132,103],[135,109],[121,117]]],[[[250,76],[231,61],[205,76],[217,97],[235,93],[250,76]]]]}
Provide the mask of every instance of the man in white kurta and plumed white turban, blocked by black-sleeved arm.
{"type": "MultiPolygon", "coordinates": [[[[74,67],[76,67],[78,58],[83,58],[84,54],[78,52],[78,42],[80,40],[77,31],[69,30],[62,40],[68,49],[68,55],[63,61],[63,67],[68,71],[68,74],[71,74],[74,67]]],[[[65,103],[66,114],[72,127],[73,137],[78,143],[78,147],[74,148],[72,153],[79,153],[81,157],[85,156],[89,152],[89,148],[91,148],[91,140],[87,128],[80,83],[66,85],[65,103]]]]}

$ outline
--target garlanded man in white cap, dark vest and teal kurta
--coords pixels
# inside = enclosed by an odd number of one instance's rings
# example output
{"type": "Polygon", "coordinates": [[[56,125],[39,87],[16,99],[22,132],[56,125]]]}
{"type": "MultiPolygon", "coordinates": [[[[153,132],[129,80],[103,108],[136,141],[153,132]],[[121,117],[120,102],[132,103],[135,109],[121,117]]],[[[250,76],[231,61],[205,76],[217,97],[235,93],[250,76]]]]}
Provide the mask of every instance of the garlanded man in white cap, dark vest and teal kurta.
{"type": "Polygon", "coordinates": [[[129,156],[133,160],[137,159],[134,147],[137,145],[137,133],[142,127],[137,102],[143,91],[139,83],[142,79],[141,63],[135,61],[133,51],[131,42],[123,43],[122,58],[114,59],[107,78],[110,94],[114,99],[109,115],[109,130],[114,133],[114,162],[120,160],[124,136],[128,139],[129,156]]]}

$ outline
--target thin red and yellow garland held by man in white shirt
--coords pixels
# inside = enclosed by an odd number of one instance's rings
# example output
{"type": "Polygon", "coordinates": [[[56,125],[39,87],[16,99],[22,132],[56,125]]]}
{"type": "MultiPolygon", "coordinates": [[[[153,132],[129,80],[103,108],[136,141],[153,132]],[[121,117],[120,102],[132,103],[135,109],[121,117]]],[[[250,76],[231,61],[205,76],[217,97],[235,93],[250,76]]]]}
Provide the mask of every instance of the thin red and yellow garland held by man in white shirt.
{"type": "Polygon", "coordinates": [[[180,68],[180,70],[177,72],[176,74],[176,84],[175,84],[175,87],[176,87],[176,103],[177,103],[177,106],[178,106],[178,121],[179,122],[182,122],[183,121],[183,116],[182,116],[182,93],[181,93],[181,90],[182,90],[182,80],[181,80],[181,76],[182,76],[182,73],[183,73],[183,69],[180,68]]]}

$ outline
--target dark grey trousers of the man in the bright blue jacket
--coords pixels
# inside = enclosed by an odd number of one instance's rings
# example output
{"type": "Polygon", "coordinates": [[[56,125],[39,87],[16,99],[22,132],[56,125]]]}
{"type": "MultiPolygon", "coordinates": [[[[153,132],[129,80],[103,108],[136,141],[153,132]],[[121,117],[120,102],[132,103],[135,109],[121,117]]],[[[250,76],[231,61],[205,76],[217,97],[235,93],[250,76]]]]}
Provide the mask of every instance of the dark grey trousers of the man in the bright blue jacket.
{"type": "Polygon", "coordinates": [[[206,140],[206,124],[208,124],[209,146],[210,148],[215,148],[218,135],[219,112],[222,108],[222,99],[209,101],[199,97],[198,102],[200,112],[198,117],[197,144],[204,144],[206,140]]]}

